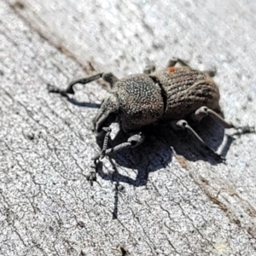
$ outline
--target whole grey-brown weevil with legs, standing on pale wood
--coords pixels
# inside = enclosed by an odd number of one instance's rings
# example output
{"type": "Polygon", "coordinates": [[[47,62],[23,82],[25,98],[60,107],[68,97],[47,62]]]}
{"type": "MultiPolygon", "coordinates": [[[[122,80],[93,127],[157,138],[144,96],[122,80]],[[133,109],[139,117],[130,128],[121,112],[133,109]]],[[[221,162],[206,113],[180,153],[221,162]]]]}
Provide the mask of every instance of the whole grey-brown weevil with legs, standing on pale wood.
{"type": "MultiPolygon", "coordinates": [[[[222,117],[218,85],[213,81],[213,75],[212,72],[195,70],[177,59],[169,61],[168,67],[159,71],[148,67],[144,73],[124,79],[117,79],[113,73],[97,73],[73,81],[66,90],[52,85],[48,89],[49,92],[67,95],[74,94],[74,84],[88,84],[103,79],[110,85],[109,96],[103,100],[93,120],[94,130],[105,132],[102,150],[93,158],[93,167],[96,169],[96,161],[104,156],[143,143],[143,127],[154,123],[170,123],[174,130],[187,130],[212,154],[218,155],[189,125],[189,121],[200,122],[210,116],[224,128],[234,127],[222,117]],[[109,125],[115,119],[118,119],[120,128],[130,137],[126,142],[108,148],[111,133],[109,125]]],[[[89,180],[90,183],[96,180],[96,170],[90,173],[89,180]]]]}

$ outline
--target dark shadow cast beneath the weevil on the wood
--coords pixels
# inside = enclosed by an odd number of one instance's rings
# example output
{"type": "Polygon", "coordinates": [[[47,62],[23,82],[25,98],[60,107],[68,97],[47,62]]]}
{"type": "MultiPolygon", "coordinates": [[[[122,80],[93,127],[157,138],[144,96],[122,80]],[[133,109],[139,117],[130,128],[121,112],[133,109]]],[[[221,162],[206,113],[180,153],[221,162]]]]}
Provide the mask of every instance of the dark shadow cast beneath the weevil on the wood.
{"type": "MultiPolygon", "coordinates": [[[[222,144],[224,128],[214,120],[207,117],[200,124],[193,125],[194,130],[214,151],[222,144]]],[[[129,183],[135,187],[148,183],[148,173],[165,168],[172,162],[172,156],[182,155],[185,160],[205,160],[211,165],[221,162],[218,154],[204,148],[202,144],[190,135],[188,131],[172,131],[171,125],[148,125],[143,128],[145,141],[136,148],[124,149],[108,155],[113,172],[106,173],[102,164],[97,168],[97,173],[105,180],[117,183],[129,183]],[[118,168],[124,166],[124,168],[118,168]],[[120,170],[119,170],[120,169],[120,170]],[[130,171],[131,170],[131,171],[130,171]]],[[[103,136],[96,137],[96,143],[102,148],[103,136]]],[[[127,141],[127,134],[119,131],[113,140],[109,140],[109,147],[127,141]]],[[[224,147],[224,155],[228,152],[232,140],[228,140],[224,147]]],[[[178,160],[178,158],[177,158],[178,160]]]]}

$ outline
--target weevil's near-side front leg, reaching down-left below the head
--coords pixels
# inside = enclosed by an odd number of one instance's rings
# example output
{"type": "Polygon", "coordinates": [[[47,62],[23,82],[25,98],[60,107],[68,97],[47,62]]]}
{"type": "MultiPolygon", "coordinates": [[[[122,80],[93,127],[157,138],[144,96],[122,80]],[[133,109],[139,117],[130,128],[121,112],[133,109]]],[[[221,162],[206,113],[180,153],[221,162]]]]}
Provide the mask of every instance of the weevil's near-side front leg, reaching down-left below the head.
{"type": "MultiPolygon", "coordinates": [[[[106,134],[106,136],[107,136],[107,134],[106,134]]],[[[106,136],[105,136],[105,139],[106,139],[106,136]]],[[[108,134],[108,137],[109,137],[109,134],[108,134]]],[[[104,143],[105,143],[105,139],[104,139],[104,143]]],[[[134,134],[131,137],[129,137],[126,143],[120,143],[119,145],[117,145],[113,148],[107,148],[107,147],[104,148],[104,145],[103,145],[102,152],[100,154],[97,154],[95,157],[93,157],[92,160],[99,160],[99,159],[102,160],[102,158],[104,158],[105,155],[113,154],[113,153],[121,151],[125,148],[135,148],[138,145],[140,145],[141,143],[143,143],[144,139],[145,139],[145,137],[143,135],[143,132],[139,132],[139,133],[134,134]]],[[[106,139],[106,141],[108,143],[108,139],[106,139]]]]}

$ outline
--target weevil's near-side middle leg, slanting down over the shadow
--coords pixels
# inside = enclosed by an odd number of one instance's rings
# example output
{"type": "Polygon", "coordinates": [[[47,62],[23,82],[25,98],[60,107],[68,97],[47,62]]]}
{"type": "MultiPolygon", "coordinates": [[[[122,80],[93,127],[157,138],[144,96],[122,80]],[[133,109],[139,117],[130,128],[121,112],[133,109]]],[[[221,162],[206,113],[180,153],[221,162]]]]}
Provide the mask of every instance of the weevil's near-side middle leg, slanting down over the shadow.
{"type": "Polygon", "coordinates": [[[203,139],[195,132],[195,130],[188,124],[188,122],[186,120],[178,120],[178,121],[172,121],[172,127],[175,130],[187,130],[189,131],[191,134],[193,134],[203,145],[204,148],[207,149],[207,151],[210,152],[210,154],[212,154],[212,156],[218,160],[218,161],[223,161],[224,158],[217,154],[212,148],[210,148],[209,146],[207,146],[207,144],[203,141],[203,139]]]}

